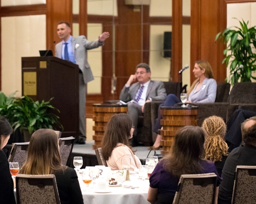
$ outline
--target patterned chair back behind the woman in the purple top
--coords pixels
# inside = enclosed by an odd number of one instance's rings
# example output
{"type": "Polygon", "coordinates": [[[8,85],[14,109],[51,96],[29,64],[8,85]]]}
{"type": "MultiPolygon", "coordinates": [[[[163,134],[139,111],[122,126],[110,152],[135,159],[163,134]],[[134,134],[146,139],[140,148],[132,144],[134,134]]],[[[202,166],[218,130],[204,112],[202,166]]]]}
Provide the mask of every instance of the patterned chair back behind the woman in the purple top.
{"type": "Polygon", "coordinates": [[[215,203],[216,184],[215,173],[181,175],[173,203],[215,203]]]}

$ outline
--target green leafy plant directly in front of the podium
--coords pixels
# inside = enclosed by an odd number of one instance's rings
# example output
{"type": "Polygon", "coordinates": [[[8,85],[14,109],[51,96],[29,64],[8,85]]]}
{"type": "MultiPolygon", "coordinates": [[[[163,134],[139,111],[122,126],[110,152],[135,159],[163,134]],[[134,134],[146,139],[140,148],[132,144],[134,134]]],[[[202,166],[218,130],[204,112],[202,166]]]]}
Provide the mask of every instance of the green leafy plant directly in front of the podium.
{"type": "Polygon", "coordinates": [[[30,134],[41,128],[53,130],[59,128],[62,131],[63,126],[58,121],[59,116],[53,113],[53,111],[59,112],[59,110],[50,105],[52,99],[49,101],[42,100],[41,103],[38,100],[34,101],[27,95],[17,99],[14,130],[18,127],[20,131],[28,129],[30,134]]]}

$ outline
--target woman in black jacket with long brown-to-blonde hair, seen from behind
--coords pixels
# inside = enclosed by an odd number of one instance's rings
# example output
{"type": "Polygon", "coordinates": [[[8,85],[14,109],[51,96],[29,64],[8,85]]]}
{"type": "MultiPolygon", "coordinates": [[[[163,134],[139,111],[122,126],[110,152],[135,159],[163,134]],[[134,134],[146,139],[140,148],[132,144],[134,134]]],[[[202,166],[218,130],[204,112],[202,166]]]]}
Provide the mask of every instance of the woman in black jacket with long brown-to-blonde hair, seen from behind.
{"type": "Polygon", "coordinates": [[[54,174],[61,204],[83,203],[76,171],[61,165],[58,136],[53,130],[39,129],[32,134],[28,158],[20,173],[54,174]]]}

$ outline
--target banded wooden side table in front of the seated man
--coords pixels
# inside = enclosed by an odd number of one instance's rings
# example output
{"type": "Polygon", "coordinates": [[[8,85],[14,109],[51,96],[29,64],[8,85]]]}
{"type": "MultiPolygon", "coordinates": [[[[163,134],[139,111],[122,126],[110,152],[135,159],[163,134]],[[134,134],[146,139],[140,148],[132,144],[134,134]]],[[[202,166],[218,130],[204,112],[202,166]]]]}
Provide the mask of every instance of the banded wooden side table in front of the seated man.
{"type": "Polygon", "coordinates": [[[127,113],[127,111],[127,105],[93,104],[93,121],[95,121],[95,125],[93,126],[93,131],[95,131],[95,135],[93,135],[93,149],[101,147],[100,144],[104,135],[105,126],[110,118],[118,113],[127,113]]]}

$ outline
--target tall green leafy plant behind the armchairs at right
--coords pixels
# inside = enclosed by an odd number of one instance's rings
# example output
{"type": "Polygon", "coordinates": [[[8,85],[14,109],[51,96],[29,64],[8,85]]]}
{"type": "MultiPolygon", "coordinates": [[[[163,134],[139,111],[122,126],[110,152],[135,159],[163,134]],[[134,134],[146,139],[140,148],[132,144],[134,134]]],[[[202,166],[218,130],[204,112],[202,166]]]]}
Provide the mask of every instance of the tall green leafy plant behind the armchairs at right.
{"type": "Polygon", "coordinates": [[[230,77],[226,81],[233,83],[251,82],[251,79],[256,79],[252,76],[252,71],[256,70],[256,27],[248,28],[247,23],[242,20],[239,21],[239,27],[225,29],[216,35],[216,40],[219,38],[227,44],[223,54],[226,55],[222,63],[230,64],[230,77]],[[254,48],[254,50],[252,50],[254,48]]]}

